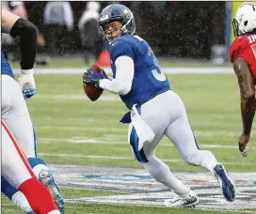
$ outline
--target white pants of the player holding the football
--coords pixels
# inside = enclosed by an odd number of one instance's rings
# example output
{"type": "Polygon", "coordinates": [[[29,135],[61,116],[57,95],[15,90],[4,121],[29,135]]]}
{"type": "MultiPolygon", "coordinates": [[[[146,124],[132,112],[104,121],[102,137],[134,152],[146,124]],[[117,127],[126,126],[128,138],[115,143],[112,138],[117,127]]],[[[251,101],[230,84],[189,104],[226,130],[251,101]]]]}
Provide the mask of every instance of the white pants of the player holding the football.
{"type": "MultiPolygon", "coordinates": [[[[139,160],[150,175],[172,191],[185,195],[189,189],[169,171],[168,165],[155,157],[155,148],[164,135],[178,148],[185,162],[202,166],[213,172],[216,158],[210,151],[200,150],[190,127],[183,100],[173,91],[162,93],[141,105],[141,117],[155,134],[152,143],[143,145],[139,160]]],[[[129,125],[128,139],[135,134],[129,125]]],[[[134,149],[135,150],[135,149],[134,149]]]]}

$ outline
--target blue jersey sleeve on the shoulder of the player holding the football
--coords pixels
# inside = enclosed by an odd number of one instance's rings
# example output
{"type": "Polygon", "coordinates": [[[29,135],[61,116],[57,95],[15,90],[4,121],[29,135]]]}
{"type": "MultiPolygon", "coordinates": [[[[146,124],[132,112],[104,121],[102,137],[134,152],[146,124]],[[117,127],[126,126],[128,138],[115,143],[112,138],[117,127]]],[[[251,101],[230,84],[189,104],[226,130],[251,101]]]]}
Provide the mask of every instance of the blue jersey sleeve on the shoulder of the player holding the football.
{"type": "Polygon", "coordinates": [[[135,59],[133,46],[123,40],[113,41],[110,44],[110,55],[113,62],[115,62],[121,55],[127,55],[132,59],[135,59]]]}

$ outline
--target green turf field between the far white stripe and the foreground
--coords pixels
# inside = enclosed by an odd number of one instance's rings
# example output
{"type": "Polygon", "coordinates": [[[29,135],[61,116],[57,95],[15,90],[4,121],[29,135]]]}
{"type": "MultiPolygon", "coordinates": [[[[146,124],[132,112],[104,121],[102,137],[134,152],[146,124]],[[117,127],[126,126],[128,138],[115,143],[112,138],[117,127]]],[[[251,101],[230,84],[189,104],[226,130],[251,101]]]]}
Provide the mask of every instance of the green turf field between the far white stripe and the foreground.
{"type": "MultiPolygon", "coordinates": [[[[72,71],[72,70],[71,70],[72,71]]],[[[38,134],[39,156],[47,163],[141,167],[133,160],[127,141],[127,126],[119,123],[127,112],[116,95],[104,92],[92,102],[83,91],[81,75],[36,75],[38,94],[27,100],[38,134]],[[64,156],[63,156],[64,155],[64,156]],[[61,157],[63,156],[63,157],[61,157]],[[91,158],[94,156],[94,158],[91,158]],[[82,157],[82,158],[81,158],[82,157]],[[111,159],[120,157],[120,159],[111,159]],[[127,159],[122,159],[122,157],[127,159]]],[[[238,151],[241,132],[239,90],[231,74],[168,75],[171,88],[184,100],[188,118],[201,149],[209,149],[232,172],[255,172],[255,122],[248,157],[238,151]]],[[[172,170],[206,172],[188,166],[175,147],[164,138],[156,155],[167,160],[172,170]],[[171,160],[178,160],[172,162],[171,160]]],[[[65,198],[109,195],[113,192],[62,189],[65,198]]],[[[3,199],[2,213],[22,213],[3,199]]],[[[170,209],[164,207],[110,206],[67,203],[74,213],[223,213],[221,211],[170,209]]],[[[249,211],[256,212],[255,209],[249,211]]],[[[228,213],[242,213],[229,211],[228,213]]]]}

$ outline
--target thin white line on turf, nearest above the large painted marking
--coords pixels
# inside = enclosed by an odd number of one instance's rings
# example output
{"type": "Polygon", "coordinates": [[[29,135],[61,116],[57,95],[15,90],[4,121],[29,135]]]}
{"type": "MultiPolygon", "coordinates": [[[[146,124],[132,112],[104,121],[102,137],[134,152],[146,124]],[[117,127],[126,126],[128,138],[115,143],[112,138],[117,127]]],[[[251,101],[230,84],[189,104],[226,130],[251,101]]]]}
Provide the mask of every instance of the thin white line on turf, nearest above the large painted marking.
{"type": "MultiPolygon", "coordinates": [[[[40,156],[47,157],[70,157],[70,158],[85,158],[85,159],[106,159],[106,160],[135,160],[134,158],[124,157],[124,156],[100,156],[100,155],[81,155],[81,154],[52,154],[40,152],[40,156]]],[[[178,159],[162,159],[166,162],[184,162],[184,160],[178,159]]],[[[226,165],[246,165],[246,166],[255,166],[256,163],[243,163],[243,162],[226,162],[223,161],[223,164],[226,165]]]]}

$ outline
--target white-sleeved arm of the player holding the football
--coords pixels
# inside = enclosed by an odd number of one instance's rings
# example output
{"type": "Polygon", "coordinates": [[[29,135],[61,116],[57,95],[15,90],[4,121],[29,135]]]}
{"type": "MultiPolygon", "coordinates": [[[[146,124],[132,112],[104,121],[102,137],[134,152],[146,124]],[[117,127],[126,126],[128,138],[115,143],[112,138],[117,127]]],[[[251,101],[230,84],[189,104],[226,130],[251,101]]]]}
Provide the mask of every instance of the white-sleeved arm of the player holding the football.
{"type": "Polygon", "coordinates": [[[115,94],[126,95],[131,90],[135,64],[134,60],[127,55],[119,56],[115,61],[116,78],[113,80],[103,79],[99,86],[115,94]]]}

